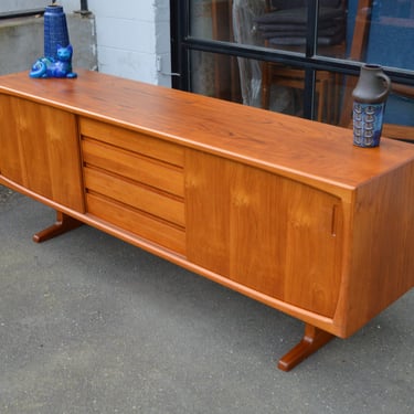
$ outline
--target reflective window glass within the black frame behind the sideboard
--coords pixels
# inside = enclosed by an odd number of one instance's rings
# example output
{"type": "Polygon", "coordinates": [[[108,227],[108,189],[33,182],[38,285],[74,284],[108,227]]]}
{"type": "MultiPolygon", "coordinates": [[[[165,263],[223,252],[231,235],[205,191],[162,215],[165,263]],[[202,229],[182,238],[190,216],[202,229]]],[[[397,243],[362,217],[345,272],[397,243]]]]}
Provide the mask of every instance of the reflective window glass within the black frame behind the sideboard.
{"type": "MultiPolygon", "coordinates": [[[[272,61],[277,61],[267,62],[267,56],[263,61],[243,57],[243,52],[231,56],[225,43],[217,44],[220,53],[191,51],[192,91],[350,127],[357,76],[341,73],[343,61],[414,71],[413,0],[320,0],[312,25],[317,53],[306,56],[305,51],[309,50],[306,43],[312,39],[308,18],[315,14],[309,3],[307,0],[189,0],[191,38],[210,40],[213,45],[220,41],[259,46],[254,50],[266,51],[276,56],[272,61]],[[320,68],[325,56],[339,60],[335,61],[337,72],[320,68]],[[300,60],[307,60],[308,66],[300,60]],[[318,71],[311,72],[309,62],[310,65],[318,62],[318,71]],[[308,91],[314,75],[315,89],[308,91]]],[[[389,125],[414,131],[414,87],[396,82],[392,86],[384,131],[394,135],[389,125]]],[[[395,134],[408,132],[399,129],[395,134]]]]}

